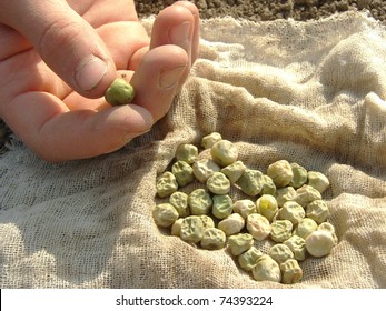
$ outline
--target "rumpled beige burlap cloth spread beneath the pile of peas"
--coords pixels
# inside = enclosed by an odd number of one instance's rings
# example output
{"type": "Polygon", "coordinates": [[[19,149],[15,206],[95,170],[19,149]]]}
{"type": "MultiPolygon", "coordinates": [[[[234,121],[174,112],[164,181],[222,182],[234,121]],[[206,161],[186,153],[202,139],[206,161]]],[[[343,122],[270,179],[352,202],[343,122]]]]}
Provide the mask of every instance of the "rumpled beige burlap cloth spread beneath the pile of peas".
{"type": "Polygon", "coordinates": [[[385,33],[353,12],[207,20],[171,111],[127,148],[49,164],[14,140],[0,159],[0,287],[289,287],[256,282],[227,250],[195,249],[154,223],[156,175],[177,146],[219,131],[249,167],[287,159],[330,180],[324,198],[339,244],[301,262],[293,287],[385,288],[385,33]]]}

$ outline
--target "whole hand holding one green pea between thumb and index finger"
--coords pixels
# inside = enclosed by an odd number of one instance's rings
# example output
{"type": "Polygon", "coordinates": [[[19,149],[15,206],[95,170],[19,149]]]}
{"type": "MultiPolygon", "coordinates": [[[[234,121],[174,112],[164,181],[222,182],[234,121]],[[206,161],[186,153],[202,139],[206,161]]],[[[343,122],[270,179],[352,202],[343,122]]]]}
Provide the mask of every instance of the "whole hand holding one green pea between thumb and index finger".
{"type": "Polygon", "coordinates": [[[198,40],[188,1],[159,13],[150,40],[132,0],[0,0],[0,118],[47,161],[112,152],[167,113],[198,40]],[[110,107],[120,76],[135,102],[110,107]]]}

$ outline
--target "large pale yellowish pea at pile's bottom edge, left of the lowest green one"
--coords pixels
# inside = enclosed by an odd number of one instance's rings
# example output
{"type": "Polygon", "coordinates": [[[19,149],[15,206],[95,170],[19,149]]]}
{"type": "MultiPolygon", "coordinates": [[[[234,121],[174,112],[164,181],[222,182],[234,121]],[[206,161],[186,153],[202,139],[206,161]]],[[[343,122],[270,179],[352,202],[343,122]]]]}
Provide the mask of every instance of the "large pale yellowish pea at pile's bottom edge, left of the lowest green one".
{"type": "Polygon", "coordinates": [[[253,269],[253,275],[256,281],[280,282],[281,272],[279,264],[269,255],[264,254],[253,269]]]}

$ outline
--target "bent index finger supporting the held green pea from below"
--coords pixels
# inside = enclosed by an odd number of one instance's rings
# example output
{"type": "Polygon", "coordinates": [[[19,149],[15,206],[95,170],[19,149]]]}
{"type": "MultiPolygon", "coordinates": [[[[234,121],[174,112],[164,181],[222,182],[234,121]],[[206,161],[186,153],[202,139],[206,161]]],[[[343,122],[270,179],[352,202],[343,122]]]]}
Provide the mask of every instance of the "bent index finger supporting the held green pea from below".
{"type": "Polygon", "coordinates": [[[68,111],[58,98],[44,92],[18,97],[3,119],[32,151],[50,162],[112,152],[154,123],[151,114],[135,104],[99,112],[68,111]]]}

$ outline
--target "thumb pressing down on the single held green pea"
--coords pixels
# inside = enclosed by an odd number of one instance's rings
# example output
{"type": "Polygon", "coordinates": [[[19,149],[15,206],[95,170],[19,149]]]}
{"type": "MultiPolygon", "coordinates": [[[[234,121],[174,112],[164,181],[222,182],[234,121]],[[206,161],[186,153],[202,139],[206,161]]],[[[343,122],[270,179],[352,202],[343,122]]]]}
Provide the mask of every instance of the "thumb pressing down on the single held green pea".
{"type": "Polygon", "coordinates": [[[2,1],[1,7],[7,8],[0,20],[24,34],[73,90],[89,98],[106,91],[116,77],[113,61],[97,31],[67,1],[2,1]]]}

